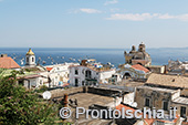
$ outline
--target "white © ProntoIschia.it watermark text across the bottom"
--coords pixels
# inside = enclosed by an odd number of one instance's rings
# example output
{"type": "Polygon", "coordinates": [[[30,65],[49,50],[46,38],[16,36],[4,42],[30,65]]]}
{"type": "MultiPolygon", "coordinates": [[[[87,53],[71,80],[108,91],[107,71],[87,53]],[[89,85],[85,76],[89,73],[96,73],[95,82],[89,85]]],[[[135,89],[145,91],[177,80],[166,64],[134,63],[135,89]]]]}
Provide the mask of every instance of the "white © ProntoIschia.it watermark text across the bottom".
{"type": "MultiPolygon", "coordinates": [[[[171,107],[169,110],[169,118],[177,118],[176,117],[176,107],[171,107]]],[[[60,116],[62,118],[70,118],[72,115],[71,108],[69,107],[62,107],[60,110],[60,116]]],[[[85,118],[88,118],[91,116],[92,118],[158,118],[163,119],[165,118],[165,111],[164,110],[156,110],[153,107],[144,110],[135,110],[134,112],[132,110],[125,110],[124,107],[119,110],[85,110],[84,107],[76,107],[75,110],[75,118],[79,118],[80,115],[85,115],[85,118]]]]}

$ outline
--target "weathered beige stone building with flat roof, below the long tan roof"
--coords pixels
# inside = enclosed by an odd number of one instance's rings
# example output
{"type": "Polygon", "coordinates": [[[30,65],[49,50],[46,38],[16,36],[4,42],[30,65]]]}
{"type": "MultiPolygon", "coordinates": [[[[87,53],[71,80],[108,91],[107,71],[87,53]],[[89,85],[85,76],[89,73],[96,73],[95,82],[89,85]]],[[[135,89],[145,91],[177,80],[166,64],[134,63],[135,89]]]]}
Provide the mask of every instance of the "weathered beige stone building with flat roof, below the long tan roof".
{"type": "Polygon", "coordinates": [[[169,113],[173,101],[180,96],[180,90],[170,90],[153,86],[139,86],[136,88],[135,101],[138,108],[164,110],[169,113]]]}

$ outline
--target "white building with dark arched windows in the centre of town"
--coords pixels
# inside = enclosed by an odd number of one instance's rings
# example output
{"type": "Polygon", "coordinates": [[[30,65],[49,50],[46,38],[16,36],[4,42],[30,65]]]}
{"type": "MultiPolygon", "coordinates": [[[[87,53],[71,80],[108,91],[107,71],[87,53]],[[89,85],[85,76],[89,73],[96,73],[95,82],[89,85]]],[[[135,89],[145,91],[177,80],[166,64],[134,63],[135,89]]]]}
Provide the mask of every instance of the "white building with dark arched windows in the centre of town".
{"type": "Polygon", "coordinates": [[[81,65],[70,66],[70,84],[73,86],[97,85],[107,83],[115,69],[102,65],[95,60],[83,60],[81,65]]]}

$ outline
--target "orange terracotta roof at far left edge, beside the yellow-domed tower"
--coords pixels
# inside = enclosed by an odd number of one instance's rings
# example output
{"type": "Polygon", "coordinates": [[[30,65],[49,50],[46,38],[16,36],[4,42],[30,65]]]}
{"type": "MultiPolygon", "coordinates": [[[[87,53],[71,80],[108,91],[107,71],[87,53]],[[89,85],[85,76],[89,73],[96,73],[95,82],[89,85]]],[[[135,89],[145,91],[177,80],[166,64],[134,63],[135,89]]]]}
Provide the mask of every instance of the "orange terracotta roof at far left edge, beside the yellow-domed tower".
{"type": "Polygon", "coordinates": [[[20,65],[10,56],[0,58],[0,67],[2,69],[19,69],[20,65]]]}

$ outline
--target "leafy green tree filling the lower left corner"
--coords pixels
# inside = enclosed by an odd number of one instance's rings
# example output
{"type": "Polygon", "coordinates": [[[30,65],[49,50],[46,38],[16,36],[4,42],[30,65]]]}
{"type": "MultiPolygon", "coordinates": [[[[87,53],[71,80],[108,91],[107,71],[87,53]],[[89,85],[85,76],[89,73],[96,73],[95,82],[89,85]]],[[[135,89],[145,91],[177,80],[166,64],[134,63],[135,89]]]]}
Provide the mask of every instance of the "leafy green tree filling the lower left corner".
{"type": "MultiPolygon", "coordinates": [[[[2,74],[3,71],[0,72],[2,74]]],[[[53,117],[58,114],[55,106],[17,84],[17,74],[14,71],[9,76],[0,76],[0,124],[53,124],[53,117]]]]}

